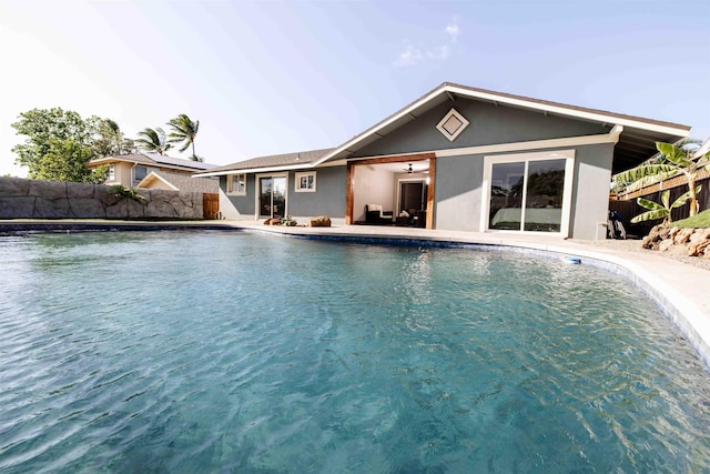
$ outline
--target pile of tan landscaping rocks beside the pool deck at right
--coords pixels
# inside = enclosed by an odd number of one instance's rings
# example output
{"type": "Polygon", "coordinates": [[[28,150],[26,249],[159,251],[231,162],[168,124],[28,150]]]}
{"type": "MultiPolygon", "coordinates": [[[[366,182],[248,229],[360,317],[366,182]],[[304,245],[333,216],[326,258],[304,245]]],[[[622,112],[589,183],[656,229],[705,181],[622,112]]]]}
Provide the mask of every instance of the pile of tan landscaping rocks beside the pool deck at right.
{"type": "Polygon", "coordinates": [[[656,225],[641,242],[643,249],[710,259],[710,229],[656,225]]]}

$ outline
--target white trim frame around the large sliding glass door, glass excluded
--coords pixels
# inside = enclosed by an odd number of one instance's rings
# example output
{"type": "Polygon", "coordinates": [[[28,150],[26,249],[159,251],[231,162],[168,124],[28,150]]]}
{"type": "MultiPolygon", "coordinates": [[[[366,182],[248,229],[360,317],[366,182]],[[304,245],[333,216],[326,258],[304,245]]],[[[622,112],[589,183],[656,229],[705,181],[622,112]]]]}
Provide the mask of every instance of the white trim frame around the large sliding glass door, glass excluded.
{"type": "MultiPolygon", "coordinates": [[[[497,154],[493,157],[484,157],[484,181],[481,186],[483,195],[481,209],[480,209],[480,232],[507,232],[515,234],[535,234],[539,235],[541,232],[535,231],[507,231],[488,229],[488,213],[490,212],[490,185],[493,165],[497,163],[509,162],[529,162],[541,160],[560,160],[565,159],[565,186],[562,190],[562,215],[559,226],[559,232],[545,232],[546,235],[556,235],[567,238],[569,236],[569,223],[572,204],[572,186],[575,182],[575,150],[555,150],[555,151],[541,151],[534,153],[515,153],[515,154],[497,154]]],[[[526,163],[527,172],[527,163],[526,163]]]]}

